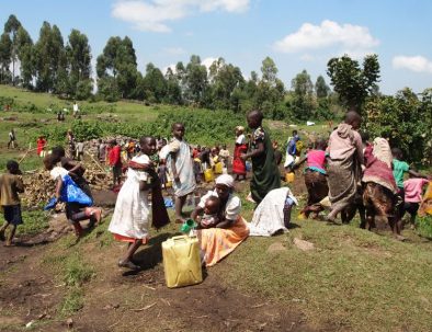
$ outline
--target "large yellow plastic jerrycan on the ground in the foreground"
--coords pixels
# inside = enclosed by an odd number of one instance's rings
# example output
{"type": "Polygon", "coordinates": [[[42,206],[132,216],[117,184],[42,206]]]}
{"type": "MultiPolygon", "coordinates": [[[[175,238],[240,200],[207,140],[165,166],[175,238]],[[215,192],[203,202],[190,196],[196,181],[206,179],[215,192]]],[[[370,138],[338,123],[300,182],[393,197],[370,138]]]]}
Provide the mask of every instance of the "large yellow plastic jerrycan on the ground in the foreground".
{"type": "Polygon", "coordinates": [[[200,284],[203,271],[196,237],[179,236],[162,242],[163,270],[167,287],[200,284]]]}

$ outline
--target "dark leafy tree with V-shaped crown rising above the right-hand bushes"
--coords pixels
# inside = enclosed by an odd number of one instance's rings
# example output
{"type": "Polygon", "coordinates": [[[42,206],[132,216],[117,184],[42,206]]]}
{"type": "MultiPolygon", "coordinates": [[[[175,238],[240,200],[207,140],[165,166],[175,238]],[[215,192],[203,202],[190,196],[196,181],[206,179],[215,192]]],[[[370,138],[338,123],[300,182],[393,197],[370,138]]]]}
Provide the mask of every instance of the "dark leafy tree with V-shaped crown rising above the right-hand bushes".
{"type": "Polygon", "coordinates": [[[368,55],[363,60],[363,69],[359,61],[348,55],[332,58],[327,64],[327,73],[341,103],[348,108],[361,112],[366,98],[378,90],[379,62],[377,55],[368,55]]]}

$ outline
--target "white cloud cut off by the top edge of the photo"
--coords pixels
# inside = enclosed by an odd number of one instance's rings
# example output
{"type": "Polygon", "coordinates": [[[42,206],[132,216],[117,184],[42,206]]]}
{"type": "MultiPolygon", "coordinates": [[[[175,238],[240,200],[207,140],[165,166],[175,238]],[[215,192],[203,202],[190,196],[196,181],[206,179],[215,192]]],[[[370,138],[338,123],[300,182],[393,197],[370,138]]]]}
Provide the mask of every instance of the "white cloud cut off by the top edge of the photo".
{"type": "Polygon", "coordinates": [[[170,32],[167,22],[196,12],[226,11],[240,13],[249,9],[250,0],[118,0],[112,16],[130,22],[140,31],[170,32]]]}

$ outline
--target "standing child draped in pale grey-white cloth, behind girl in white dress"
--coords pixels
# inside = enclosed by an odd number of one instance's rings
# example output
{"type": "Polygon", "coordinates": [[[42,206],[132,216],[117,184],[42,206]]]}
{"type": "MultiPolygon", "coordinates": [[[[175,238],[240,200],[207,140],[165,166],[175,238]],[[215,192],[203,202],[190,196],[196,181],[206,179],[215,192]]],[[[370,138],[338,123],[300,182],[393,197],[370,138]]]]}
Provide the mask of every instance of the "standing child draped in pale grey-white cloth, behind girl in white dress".
{"type": "Polygon", "coordinates": [[[196,182],[193,172],[191,149],[184,141],[184,125],[175,123],[172,125],[173,138],[168,156],[168,167],[172,174],[175,196],[175,222],[183,224],[182,209],[189,194],[195,191],[196,182]]]}

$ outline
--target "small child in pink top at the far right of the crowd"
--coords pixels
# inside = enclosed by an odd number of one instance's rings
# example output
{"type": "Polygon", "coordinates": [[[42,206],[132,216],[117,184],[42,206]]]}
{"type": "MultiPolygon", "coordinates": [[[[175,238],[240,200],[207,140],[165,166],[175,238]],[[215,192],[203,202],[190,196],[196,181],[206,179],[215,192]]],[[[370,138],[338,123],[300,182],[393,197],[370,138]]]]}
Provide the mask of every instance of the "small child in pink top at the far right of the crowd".
{"type": "Polygon", "coordinates": [[[414,178],[412,174],[410,174],[410,179],[403,182],[405,204],[400,218],[403,218],[403,215],[408,211],[411,216],[410,221],[412,227],[416,225],[417,211],[419,210],[420,203],[422,201],[421,195],[423,186],[425,186],[428,183],[429,180],[414,178]]]}

